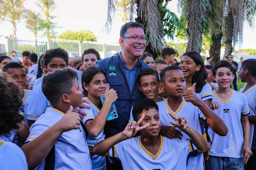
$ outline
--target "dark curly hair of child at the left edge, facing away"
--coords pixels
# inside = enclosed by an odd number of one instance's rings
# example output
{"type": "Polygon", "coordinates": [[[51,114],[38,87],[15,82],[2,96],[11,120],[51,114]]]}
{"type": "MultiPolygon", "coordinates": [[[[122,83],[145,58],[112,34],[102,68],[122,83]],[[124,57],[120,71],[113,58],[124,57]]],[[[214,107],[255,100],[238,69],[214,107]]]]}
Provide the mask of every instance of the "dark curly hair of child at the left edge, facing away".
{"type": "Polygon", "coordinates": [[[24,117],[19,114],[23,107],[22,89],[5,74],[0,75],[0,135],[8,136],[12,129],[19,128],[17,123],[24,120],[24,117]]]}

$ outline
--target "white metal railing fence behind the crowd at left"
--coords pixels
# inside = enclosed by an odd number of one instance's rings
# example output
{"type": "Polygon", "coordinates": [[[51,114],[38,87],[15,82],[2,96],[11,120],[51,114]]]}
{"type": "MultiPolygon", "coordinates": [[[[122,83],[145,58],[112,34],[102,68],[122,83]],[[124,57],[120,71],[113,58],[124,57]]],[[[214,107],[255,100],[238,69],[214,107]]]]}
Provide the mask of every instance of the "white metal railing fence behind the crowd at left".
{"type": "Polygon", "coordinates": [[[51,48],[63,48],[68,52],[70,57],[81,56],[84,50],[88,48],[94,48],[101,55],[101,58],[107,58],[113,56],[115,53],[121,51],[121,46],[114,43],[99,43],[95,41],[83,41],[79,40],[64,40],[64,39],[35,39],[35,40],[25,40],[13,37],[1,37],[0,44],[6,46],[6,51],[4,48],[1,51],[6,52],[7,55],[11,56],[11,51],[16,51],[18,57],[22,56],[23,51],[29,51],[31,53],[36,53],[38,56],[44,54],[47,50],[51,48]]]}

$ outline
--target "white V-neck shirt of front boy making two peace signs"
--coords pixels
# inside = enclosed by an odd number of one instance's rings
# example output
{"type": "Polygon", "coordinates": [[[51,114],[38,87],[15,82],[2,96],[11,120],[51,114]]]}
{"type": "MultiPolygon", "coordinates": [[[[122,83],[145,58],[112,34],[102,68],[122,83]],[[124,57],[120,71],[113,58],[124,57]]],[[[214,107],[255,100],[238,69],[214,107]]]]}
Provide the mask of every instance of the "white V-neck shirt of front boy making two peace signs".
{"type": "Polygon", "coordinates": [[[110,160],[118,158],[123,169],[186,169],[190,151],[190,138],[169,139],[161,136],[161,145],[156,155],[148,152],[141,143],[141,136],[124,140],[109,150],[110,160]]]}

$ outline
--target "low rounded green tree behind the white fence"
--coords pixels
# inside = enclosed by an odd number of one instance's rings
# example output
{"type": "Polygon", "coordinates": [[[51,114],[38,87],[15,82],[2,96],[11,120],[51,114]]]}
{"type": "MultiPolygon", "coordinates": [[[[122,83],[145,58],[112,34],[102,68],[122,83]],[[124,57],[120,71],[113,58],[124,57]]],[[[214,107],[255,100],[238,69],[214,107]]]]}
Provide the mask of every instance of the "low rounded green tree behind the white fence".
{"type": "Polygon", "coordinates": [[[67,39],[67,40],[79,40],[83,41],[97,41],[96,36],[93,32],[82,30],[82,31],[72,31],[67,30],[66,32],[61,33],[58,38],[67,39]]]}

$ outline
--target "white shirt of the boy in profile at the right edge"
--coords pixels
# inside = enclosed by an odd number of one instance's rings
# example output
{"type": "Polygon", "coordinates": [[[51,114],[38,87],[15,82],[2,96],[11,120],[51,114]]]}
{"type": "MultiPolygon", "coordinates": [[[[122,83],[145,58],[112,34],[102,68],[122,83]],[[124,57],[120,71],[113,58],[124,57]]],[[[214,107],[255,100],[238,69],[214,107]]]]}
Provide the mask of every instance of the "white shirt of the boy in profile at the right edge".
{"type": "MultiPolygon", "coordinates": [[[[243,92],[243,89],[246,87],[247,83],[244,84],[243,88],[239,90],[239,92],[243,92]]],[[[252,87],[250,87],[248,90],[243,92],[243,94],[246,96],[250,114],[248,116],[255,116],[256,115],[256,84],[252,87]]],[[[256,149],[256,126],[254,126],[254,123],[250,123],[250,144],[252,149],[256,149]]]]}

